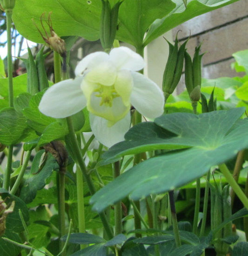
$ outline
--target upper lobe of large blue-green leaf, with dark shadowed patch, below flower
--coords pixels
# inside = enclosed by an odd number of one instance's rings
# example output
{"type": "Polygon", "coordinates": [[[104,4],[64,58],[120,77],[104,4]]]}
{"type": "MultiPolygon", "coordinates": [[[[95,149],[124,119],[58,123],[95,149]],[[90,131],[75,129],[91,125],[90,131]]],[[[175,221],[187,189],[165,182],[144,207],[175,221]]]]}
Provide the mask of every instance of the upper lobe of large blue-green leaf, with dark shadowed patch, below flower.
{"type": "Polygon", "coordinates": [[[243,112],[243,108],[236,108],[201,115],[174,113],[157,118],[155,123],[140,123],[126,133],[125,141],[115,144],[103,154],[103,163],[114,162],[123,155],[155,149],[214,147],[211,143],[221,141],[243,112]]]}

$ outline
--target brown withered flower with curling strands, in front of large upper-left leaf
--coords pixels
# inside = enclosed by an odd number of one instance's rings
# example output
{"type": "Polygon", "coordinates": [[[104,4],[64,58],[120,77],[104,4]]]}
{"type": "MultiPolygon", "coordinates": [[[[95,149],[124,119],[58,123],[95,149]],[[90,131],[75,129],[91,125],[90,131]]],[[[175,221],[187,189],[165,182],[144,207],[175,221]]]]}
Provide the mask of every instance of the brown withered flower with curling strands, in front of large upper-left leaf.
{"type": "MultiPolygon", "coordinates": [[[[54,50],[55,52],[59,53],[62,57],[65,57],[66,55],[66,47],[65,47],[65,41],[61,39],[55,32],[52,26],[52,20],[51,20],[51,14],[52,12],[48,13],[47,19],[45,18],[45,13],[42,13],[40,16],[40,24],[41,27],[43,28],[45,35],[42,34],[40,31],[39,27],[34,22],[35,27],[38,29],[40,32],[40,35],[42,36],[43,40],[47,43],[47,45],[54,50]],[[47,33],[47,30],[44,27],[43,22],[47,23],[47,26],[49,27],[50,34],[47,33]]],[[[33,19],[34,21],[34,19],[33,19]]]]}

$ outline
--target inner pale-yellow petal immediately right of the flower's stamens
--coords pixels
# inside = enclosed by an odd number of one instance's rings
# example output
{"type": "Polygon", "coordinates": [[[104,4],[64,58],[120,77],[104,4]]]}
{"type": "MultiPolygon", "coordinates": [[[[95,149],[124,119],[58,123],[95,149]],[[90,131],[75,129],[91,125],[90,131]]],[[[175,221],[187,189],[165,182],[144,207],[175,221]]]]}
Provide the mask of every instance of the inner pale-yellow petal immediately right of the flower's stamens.
{"type": "Polygon", "coordinates": [[[121,96],[125,106],[130,106],[130,95],[133,88],[133,77],[128,70],[120,70],[114,83],[116,92],[121,96]]]}

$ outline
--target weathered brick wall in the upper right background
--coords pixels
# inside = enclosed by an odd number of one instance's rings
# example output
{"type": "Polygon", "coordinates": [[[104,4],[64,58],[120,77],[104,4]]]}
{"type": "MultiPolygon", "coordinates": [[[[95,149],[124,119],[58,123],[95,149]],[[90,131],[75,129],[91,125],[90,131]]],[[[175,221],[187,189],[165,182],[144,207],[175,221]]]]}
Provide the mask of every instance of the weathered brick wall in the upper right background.
{"type": "MultiPolygon", "coordinates": [[[[240,0],[210,13],[202,14],[173,29],[173,38],[184,41],[191,34],[187,44],[193,56],[194,47],[202,43],[202,77],[217,78],[237,76],[230,64],[232,54],[248,49],[248,0],[240,0]]],[[[183,81],[181,81],[181,86],[183,81]]]]}

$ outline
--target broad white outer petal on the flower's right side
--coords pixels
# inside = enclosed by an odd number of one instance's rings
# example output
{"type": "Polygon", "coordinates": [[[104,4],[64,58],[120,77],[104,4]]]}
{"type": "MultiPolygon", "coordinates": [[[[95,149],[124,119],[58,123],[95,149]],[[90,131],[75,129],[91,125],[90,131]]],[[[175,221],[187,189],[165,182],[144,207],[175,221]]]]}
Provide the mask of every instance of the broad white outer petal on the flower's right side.
{"type": "Polygon", "coordinates": [[[164,112],[164,95],[162,90],[144,75],[132,72],[134,88],[131,104],[141,115],[154,119],[164,112]]]}

